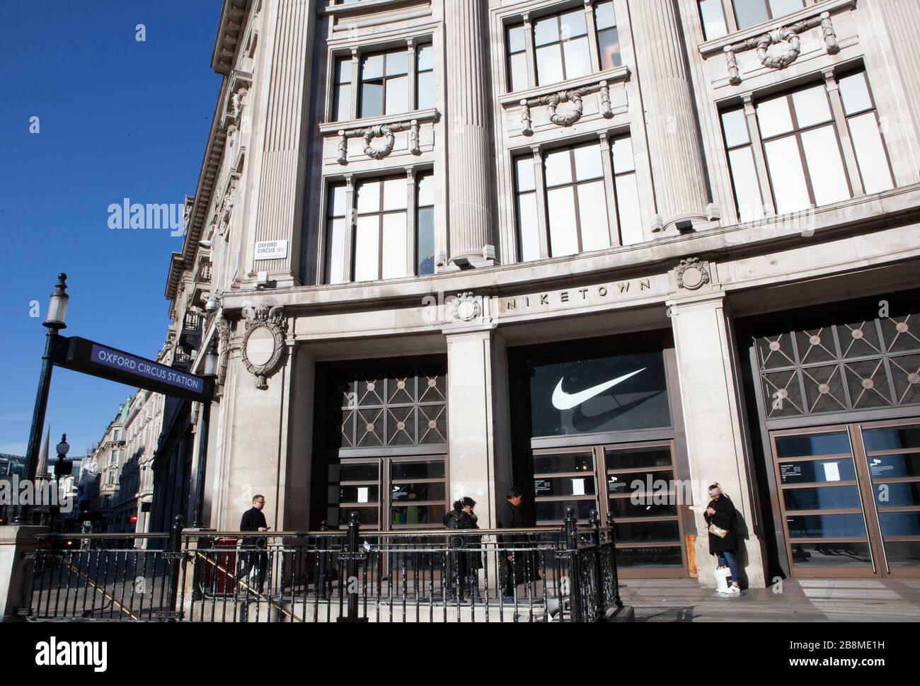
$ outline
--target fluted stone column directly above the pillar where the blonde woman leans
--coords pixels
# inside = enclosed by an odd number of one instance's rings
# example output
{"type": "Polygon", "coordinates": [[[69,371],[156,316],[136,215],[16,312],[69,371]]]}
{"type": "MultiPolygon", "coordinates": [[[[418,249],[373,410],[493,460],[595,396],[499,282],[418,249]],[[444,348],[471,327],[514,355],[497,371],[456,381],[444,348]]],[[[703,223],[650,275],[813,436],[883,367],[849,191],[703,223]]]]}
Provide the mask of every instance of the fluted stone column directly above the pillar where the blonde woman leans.
{"type": "Polygon", "coordinates": [[[629,3],[658,214],[706,221],[706,167],[674,0],[629,3]]]}

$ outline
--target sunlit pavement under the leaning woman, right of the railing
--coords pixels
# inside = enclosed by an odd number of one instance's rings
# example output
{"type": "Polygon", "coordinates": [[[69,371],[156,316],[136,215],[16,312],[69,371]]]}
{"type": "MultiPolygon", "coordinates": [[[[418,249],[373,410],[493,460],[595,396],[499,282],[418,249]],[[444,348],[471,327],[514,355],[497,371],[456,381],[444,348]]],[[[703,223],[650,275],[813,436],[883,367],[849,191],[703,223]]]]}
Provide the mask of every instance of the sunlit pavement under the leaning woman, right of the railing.
{"type": "Polygon", "coordinates": [[[920,579],[786,579],[720,596],[696,579],[624,579],[636,622],[920,622],[920,579]]]}

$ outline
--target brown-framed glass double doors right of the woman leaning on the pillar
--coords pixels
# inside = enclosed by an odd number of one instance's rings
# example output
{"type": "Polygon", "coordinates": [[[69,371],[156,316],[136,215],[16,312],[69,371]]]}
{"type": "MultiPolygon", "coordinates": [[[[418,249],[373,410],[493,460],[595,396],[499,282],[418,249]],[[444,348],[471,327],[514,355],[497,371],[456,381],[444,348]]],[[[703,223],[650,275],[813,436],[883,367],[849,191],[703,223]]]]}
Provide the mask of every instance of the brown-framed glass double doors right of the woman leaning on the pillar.
{"type": "Polygon", "coordinates": [[[793,576],[920,576],[920,424],[771,434],[793,576]]]}

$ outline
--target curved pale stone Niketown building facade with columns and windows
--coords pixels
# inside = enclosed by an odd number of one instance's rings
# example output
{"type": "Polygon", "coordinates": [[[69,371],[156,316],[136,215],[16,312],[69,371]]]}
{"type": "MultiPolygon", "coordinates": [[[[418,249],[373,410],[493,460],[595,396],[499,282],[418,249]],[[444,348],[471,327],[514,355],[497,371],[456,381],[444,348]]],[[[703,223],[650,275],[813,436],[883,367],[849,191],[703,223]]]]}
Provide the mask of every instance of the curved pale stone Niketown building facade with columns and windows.
{"type": "Polygon", "coordinates": [[[712,584],[719,482],[752,586],[916,576],[918,34],[915,0],[226,0],[167,278],[177,355],[220,351],[206,522],[489,526],[513,483],[712,584]]]}

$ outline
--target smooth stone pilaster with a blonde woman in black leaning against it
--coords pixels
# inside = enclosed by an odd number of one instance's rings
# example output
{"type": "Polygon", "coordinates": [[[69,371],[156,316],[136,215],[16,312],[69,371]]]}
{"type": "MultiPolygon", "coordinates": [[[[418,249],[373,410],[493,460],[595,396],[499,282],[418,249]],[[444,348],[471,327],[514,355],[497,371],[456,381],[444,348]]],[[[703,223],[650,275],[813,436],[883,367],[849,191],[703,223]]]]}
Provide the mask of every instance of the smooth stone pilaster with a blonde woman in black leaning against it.
{"type": "Polygon", "coordinates": [[[668,303],[681,382],[687,455],[694,488],[699,582],[714,587],[716,558],[709,554],[703,512],[708,483],[719,482],[738,510],[739,564],[751,587],[766,585],[764,550],[747,461],[742,394],[731,321],[721,293],[668,303]]]}

